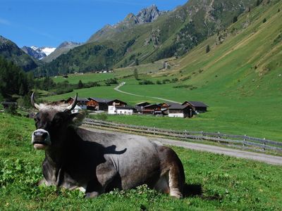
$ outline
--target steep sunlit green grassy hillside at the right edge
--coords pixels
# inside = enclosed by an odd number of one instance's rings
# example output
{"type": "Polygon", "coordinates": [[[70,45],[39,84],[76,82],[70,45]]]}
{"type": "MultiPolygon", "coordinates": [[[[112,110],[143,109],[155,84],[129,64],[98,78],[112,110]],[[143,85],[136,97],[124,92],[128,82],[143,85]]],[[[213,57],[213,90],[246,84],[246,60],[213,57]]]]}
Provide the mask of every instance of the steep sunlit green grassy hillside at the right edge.
{"type": "Polygon", "coordinates": [[[281,1],[263,3],[238,17],[187,56],[171,63],[183,84],[216,93],[281,94],[281,1]],[[209,53],[206,53],[207,46],[209,53]],[[216,91],[217,90],[217,91],[216,91]]]}

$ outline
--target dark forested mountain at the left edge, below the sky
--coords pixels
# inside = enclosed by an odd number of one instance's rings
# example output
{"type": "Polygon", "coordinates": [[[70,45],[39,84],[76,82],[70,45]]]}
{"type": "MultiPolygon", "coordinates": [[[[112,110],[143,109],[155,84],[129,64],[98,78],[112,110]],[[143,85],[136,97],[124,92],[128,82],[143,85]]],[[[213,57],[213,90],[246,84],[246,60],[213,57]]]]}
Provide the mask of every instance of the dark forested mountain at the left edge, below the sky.
{"type": "Polygon", "coordinates": [[[0,36],[0,56],[12,61],[25,71],[37,68],[37,63],[21,50],[13,41],[0,36]]]}

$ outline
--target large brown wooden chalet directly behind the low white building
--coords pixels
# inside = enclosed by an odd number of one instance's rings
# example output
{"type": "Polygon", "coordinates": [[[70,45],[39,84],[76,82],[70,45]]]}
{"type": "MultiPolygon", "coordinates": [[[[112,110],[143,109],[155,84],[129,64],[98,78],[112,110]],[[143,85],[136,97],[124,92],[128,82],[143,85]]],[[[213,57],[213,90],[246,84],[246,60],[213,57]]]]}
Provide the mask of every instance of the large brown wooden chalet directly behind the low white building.
{"type": "Polygon", "coordinates": [[[107,111],[109,106],[126,106],[127,103],[120,101],[118,99],[104,99],[104,98],[88,98],[87,103],[88,110],[104,110],[107,111]]]}

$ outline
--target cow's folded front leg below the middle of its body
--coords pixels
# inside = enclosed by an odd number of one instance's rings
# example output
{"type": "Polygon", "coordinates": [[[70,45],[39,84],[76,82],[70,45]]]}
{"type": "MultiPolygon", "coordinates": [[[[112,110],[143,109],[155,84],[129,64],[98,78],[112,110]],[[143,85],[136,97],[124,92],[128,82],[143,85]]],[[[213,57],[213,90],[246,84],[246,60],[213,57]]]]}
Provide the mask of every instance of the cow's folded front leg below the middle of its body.
{"type": "Polygon", "coordinates": [[[86,197],[96,197],[104,193],[106,186],[116,177],[116,168],[111,161],[106,161],[97,166],[96,177],[87,184],[86,197]]]}

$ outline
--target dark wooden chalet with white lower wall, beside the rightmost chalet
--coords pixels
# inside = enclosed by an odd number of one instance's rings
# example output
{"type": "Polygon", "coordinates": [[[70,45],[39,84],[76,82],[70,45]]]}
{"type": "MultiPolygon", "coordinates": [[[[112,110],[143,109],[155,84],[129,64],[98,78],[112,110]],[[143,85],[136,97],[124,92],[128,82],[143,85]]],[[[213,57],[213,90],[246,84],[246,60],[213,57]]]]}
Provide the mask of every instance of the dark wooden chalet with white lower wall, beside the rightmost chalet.
{"type": "Polygon", "coordinates": [[[168,117],[192,117],[193,111],[189,105],[174,104],[168,108],[168,117]]]}

